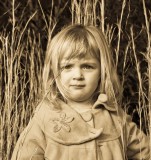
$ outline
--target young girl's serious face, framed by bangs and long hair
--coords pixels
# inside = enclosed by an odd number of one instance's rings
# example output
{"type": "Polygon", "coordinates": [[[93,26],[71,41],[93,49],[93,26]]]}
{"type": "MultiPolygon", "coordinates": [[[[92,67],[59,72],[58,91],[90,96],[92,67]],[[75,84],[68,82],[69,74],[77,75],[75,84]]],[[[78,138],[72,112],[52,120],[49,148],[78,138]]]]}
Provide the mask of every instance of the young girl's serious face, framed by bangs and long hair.
{"type": "Polygon", "coordinates": [[[67,100],[84,102],[92,100],[100,80],[100,62],[90,54],[83,58],[60,62],[60,91],[67,100]]]}

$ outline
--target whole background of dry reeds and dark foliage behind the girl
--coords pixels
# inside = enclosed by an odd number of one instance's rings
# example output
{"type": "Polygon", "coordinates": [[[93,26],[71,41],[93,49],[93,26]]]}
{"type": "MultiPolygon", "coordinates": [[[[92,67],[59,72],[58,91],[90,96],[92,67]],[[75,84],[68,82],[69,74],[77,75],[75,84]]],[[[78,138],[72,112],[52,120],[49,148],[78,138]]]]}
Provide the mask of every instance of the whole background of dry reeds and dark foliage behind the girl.
{"type": "Polygon", "coordinates": [[[100,27],[123,86],[122,107],[150,136],[150,0],[5,0],[0,2],[0,145],[10,160],[41,95],[47,41],[68,24],[100,27]]]}

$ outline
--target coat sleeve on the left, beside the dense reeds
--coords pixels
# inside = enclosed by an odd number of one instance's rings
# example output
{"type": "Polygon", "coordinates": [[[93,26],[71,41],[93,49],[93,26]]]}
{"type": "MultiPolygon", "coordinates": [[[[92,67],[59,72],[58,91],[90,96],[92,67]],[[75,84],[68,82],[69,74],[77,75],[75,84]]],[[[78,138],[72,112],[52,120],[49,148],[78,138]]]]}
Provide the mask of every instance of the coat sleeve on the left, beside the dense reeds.
{"type": "Polygon", "coordinates": [[[34,116],[20,135],[11,160],[44,160],[45,136],[34,116]]]}

